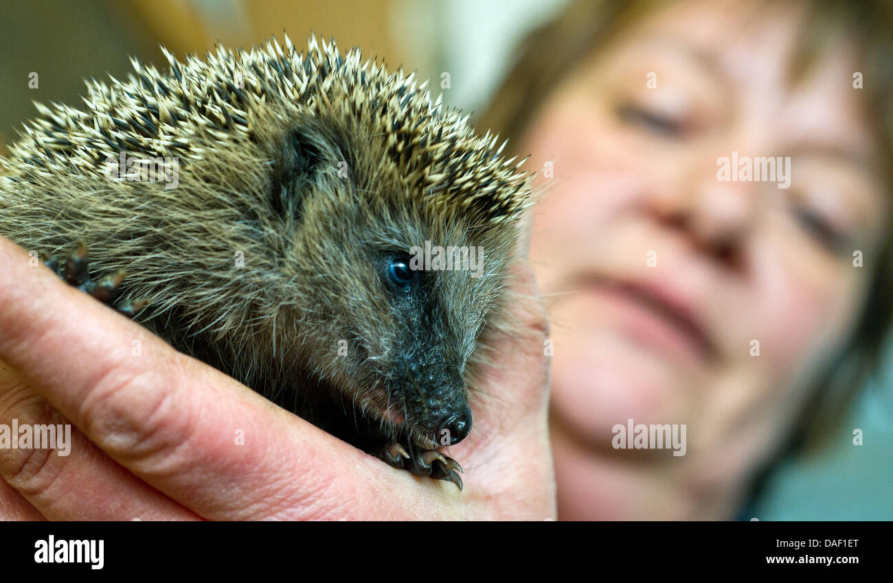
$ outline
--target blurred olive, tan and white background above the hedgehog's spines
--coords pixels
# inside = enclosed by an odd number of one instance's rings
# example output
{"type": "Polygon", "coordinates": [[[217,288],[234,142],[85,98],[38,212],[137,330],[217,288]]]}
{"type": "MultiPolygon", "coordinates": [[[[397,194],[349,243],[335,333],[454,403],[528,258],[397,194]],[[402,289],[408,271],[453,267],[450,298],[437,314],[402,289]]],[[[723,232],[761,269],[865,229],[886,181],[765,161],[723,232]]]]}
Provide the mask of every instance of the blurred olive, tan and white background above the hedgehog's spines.
{"type": "Polygon", "coordinates": [[[546,21],[563,0],[475,2],[450,0],[3,0],[0,2],[0,137],[16,139],[21,120],[34,117],[33,101],[80,103],[84,78],[123,78],[129,57],[165,64],[158,45],[182,57],[214,43],[263,44],[288,32],[306,45],[313,32],[334,37],[342,51],[356,45],[363,56],[401,64],[432,79],[444,102],[465,111],[485,107],[510,62],[513,43],[546,21]],[[29,89],[29,73],[39,86],[29,89]]]}

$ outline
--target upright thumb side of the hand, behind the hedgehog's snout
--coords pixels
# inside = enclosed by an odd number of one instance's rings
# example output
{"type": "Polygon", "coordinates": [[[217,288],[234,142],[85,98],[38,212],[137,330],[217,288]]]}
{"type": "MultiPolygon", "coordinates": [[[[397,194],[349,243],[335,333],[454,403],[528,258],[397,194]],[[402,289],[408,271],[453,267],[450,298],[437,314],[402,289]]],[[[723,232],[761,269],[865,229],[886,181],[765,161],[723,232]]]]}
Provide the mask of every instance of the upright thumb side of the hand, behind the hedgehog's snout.
{"type": "Polygon", "coordinates": [[[485,423],[475,423],[469,438],[449,449],[463,460],[472,495],[475,481],[488,484],[492,513],[536,520],[556,515],[547,437],[548,334],[536,278],[526,259],[519,259],[508,277],[504,311],[481,336],[473,357],[472,411],[485,423]],[[494,491],[500,494],[493,497],[494,491]]]}

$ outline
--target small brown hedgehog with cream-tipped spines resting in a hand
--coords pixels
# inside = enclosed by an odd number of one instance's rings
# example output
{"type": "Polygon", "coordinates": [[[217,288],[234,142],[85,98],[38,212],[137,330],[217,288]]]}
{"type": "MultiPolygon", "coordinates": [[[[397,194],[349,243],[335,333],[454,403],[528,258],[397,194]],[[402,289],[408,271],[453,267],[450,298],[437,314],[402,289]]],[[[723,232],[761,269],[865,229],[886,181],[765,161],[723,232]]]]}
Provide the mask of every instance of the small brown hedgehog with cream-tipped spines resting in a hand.
{"type": "Polygon", "coordinates": [[[442,446],[471,431],[486,332],[509,325],[523,160],[334,39],[162,52],[166,72],[134,59],[126,80],[87,81],[86,109],[36,103],[0,158],[0,234],[175,349],[461,490],[442,446]]]}

